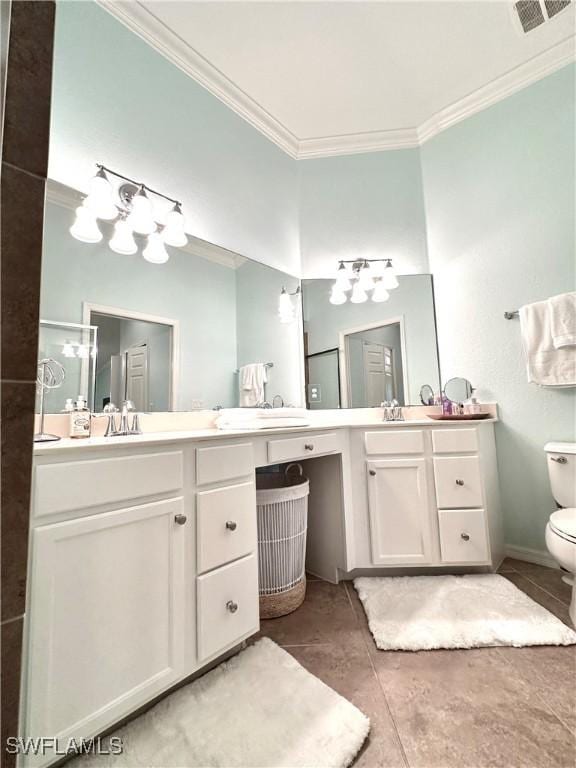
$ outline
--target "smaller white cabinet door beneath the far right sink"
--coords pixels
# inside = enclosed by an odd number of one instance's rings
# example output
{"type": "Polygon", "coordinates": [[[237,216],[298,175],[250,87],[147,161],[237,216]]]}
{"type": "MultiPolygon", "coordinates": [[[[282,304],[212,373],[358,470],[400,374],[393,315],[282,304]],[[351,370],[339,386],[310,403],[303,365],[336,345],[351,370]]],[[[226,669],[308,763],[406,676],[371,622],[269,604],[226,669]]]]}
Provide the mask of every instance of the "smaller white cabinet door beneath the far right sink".
{"type": "Polygon", "coordinates": [[[366,462],[375,565],[432,562],[431,507],[424,459],[366,462]]]}

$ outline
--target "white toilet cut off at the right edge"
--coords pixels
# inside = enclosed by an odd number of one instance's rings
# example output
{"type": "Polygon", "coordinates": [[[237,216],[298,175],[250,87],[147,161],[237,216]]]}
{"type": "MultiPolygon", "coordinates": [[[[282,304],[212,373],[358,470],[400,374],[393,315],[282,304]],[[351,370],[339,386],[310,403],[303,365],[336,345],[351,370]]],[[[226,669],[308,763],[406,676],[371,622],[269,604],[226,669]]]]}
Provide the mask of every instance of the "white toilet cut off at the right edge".
{"type": "Polygon", "coordinates": [[[576,443],[547,443],[548,476],[552,495],[560,509],[552,512],[546,526],[546,546],[572,584],[570,619],[576,626],[576,443]]]}

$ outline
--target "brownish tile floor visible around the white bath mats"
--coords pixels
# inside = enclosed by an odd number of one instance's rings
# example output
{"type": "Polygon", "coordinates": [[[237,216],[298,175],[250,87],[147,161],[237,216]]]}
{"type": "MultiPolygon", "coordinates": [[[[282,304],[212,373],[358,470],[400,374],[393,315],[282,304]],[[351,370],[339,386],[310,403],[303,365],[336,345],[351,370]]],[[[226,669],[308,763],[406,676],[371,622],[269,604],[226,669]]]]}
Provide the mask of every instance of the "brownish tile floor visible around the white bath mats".
{"type": "MultiPolygon", "coordinates": [[[[500,572],[568,623],[560,571],[508,559],[500,572]]],[[[576,646],[378,651],[353,586],[317,580],[261,634],[370,717],[356,768],[576,766],[576,646]]]]}

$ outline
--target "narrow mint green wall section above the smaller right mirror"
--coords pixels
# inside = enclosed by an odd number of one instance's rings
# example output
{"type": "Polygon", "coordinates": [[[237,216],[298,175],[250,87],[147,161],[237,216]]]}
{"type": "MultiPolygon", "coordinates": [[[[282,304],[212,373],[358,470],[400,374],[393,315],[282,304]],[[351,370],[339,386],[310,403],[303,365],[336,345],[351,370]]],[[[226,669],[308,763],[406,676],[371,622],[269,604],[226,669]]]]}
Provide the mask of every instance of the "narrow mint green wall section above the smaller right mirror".
{"type": "Polygon", "coordinates": [[[417,149],[303,160],[300,246],[304,277],[328,277],[338,259],[393,257],[398,272],[428,272],[417,149]]]}

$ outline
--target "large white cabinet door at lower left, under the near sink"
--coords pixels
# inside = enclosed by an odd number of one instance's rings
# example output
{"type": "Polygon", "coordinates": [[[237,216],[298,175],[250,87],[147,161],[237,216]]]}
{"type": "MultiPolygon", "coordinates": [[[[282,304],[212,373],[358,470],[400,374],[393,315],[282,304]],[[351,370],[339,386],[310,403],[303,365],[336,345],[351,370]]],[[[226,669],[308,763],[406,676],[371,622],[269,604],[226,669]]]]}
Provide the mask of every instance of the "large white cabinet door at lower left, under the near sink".
{"type": "Polygon", "coordinates": [[[184,674],[182,513],[178,498],[34,531],[27,735],[94,735],[184,674]]]}

